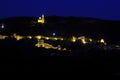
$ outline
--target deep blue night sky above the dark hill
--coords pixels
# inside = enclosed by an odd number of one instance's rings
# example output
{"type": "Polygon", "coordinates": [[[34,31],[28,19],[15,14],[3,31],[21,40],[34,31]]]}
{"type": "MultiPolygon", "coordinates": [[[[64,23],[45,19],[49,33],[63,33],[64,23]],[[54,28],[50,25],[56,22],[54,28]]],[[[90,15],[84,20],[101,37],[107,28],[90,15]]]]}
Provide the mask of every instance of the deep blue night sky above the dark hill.
{"type": "Polygon", "coordinates": [[[120,0],[0,0],[0,18],[79,16],[120,20],[120,0]]]}

